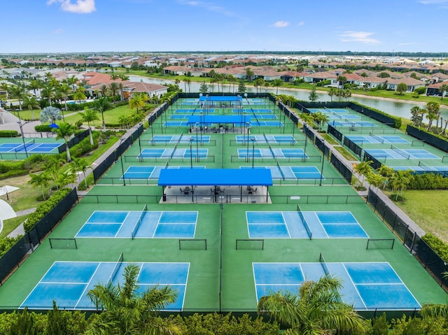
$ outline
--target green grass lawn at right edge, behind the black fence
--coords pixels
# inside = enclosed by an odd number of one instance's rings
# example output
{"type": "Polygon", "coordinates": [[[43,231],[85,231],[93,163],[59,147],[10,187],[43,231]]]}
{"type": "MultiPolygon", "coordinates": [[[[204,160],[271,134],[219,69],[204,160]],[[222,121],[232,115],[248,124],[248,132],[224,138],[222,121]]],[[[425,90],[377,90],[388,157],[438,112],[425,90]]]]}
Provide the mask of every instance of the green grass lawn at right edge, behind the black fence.
{"type": "MultiPolygon", "coordinates": [[[[384,192],[391,195],[391,192],[384,192]]],[[[426,233],[448,243],[448,190],[406,190],[396,203],[426,233]]]]}

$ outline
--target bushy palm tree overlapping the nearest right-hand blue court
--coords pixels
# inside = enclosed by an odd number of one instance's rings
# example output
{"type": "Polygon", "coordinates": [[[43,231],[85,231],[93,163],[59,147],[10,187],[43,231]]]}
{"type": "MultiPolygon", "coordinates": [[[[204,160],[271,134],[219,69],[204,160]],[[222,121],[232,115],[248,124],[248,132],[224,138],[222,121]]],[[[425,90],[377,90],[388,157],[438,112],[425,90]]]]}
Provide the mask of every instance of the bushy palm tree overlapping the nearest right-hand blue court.
{"type": "Polygon", "coordinates": [[[285,334],[365,334],[369,325],[353,307],[341,301],[338,278],[325,276],[305,281],[298,292],[277,292],[258,301],[258,313],[267,314],[288,327],[285,334]]]}

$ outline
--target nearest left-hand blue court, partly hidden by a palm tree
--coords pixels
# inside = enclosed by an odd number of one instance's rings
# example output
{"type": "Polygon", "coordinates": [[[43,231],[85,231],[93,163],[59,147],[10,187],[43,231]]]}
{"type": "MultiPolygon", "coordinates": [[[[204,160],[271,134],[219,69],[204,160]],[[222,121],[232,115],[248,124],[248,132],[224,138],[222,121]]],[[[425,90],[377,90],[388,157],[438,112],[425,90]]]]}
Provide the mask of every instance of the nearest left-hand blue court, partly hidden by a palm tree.
{"type": "MultiPolygon", "coordinates": [[[[102,283],[123,284],[127,262],[54,262],[29,293],[20,308],[51,309],[57,301],[61,309],[96,310],[87,292],[102,283]]],[[[133,263],[139,266],[139,292],[155,285],[170,285],[178,292],[165,311],[181,311],[190,263],[133,263]]]]}

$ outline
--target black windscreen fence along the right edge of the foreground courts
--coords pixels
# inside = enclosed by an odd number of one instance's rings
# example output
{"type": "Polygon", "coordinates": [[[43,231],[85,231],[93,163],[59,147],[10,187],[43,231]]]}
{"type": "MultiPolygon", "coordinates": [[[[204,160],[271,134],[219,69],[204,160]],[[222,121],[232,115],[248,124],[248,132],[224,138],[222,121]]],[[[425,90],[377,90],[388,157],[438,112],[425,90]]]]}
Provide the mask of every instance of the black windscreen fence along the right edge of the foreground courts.
{"type": "Polygon", "coordinates": [[[442,274],[444,271],[448,271],[447,262],[437,255],[428,243],[423,241],[421,236],[409,227],[405,222],[405,218],[401,218],[399,214],[389,208],[378,194],[369,190],[367,201],[377,211],[391,231],[401,239],[407,250],[423,264],[424,268],[435,278],[437,283],[444,287],[444,290],[447,290],[448,278],[444,278],[442,274]]]}

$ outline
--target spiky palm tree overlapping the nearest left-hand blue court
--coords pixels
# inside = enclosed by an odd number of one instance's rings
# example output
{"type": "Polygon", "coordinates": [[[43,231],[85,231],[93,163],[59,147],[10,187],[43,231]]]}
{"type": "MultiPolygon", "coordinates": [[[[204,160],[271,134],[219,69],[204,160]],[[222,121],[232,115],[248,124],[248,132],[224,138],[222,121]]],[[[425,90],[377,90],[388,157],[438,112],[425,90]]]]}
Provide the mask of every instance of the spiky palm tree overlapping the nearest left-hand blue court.
{"type": "Polygon", "coordinates": [[[172,287],[151,287],[139,293],[139,266],[128,264],[123,273],[123,285],[97,284],[87,292],[102,313],[87,327],[87,334],[176,334],[175,324],[154,322],[158,312],[176,301],[172,287]],[[168,328],[167,328],[168,327],[168,328]]]}

